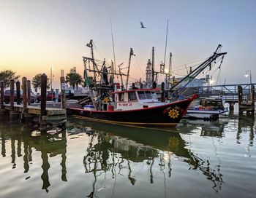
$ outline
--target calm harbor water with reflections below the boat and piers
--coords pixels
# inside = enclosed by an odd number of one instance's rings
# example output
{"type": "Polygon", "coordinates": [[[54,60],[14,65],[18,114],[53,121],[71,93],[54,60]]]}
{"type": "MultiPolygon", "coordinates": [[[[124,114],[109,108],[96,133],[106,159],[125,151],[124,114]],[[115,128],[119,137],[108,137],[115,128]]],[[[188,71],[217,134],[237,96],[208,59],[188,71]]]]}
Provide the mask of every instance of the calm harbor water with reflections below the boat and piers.
{"type": "Polygon", "coordinates": [[[1,119],[0,197],[255,197],[255,118],[126,127],[1,119]]]}

